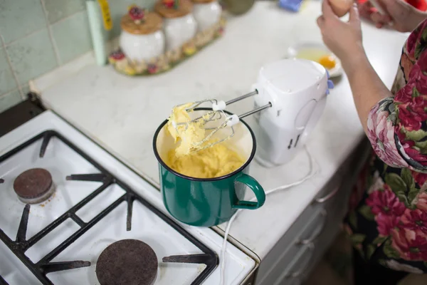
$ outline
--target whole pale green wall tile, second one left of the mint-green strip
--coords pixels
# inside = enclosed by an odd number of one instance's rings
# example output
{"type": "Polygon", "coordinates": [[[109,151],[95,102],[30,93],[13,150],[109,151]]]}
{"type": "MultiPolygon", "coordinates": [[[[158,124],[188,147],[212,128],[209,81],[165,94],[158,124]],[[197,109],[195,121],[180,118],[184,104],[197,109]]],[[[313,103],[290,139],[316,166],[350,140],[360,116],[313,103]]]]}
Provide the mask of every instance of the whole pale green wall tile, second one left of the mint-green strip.
{"type": "Polygon", "coordinates": [[[57,66],[47,28],[11,43],[6,51],[20,84],[57,66]]]}

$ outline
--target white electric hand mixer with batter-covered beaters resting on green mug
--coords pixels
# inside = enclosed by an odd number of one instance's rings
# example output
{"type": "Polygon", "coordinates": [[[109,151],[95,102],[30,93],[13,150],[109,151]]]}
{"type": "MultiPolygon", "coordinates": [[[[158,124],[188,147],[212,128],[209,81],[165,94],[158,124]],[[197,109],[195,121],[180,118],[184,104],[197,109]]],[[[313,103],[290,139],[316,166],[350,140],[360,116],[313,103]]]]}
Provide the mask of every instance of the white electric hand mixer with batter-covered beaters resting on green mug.
{"type": "Polygon", "coordinates": [[[209,130],[204,139],[194,143],[194,150],[199,151],[232,138],[233,125],[256,114],[255,124],[251,125],[258,142],[256,159],[265,167],[282,165],[292,160],[297,150],[305,145],[322,115],[329,88],[333,88],[328,79],[326,69],[314,61],[292,58],[269,63],[260,69],[253,92],[227,102],[216,99],[197,101],[186,110],[194,110],[204,103],[211,103],[211,110],[189,122],[172,124],[177,129],[180,125],[188,128],[191,123],[200,123],[209,130]],[[228,105],[249,97],[254,98],[253,110],[241,115],[224,112],[228,105]],[[211,123],[217,125],[210,126],[211,123]],[[206,144],[224,128],[231,130],[229,135],[206,144]]]}

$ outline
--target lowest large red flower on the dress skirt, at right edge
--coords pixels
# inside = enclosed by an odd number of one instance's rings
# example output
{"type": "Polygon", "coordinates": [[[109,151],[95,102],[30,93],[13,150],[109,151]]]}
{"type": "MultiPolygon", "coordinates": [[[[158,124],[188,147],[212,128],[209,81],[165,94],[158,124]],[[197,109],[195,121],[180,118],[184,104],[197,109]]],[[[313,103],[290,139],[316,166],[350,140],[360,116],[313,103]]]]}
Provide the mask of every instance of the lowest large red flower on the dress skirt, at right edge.
{"type": "Polygon", "coordinates": [[[391,247],[396,249],[401,259],[427,261],[427,238],[421,231],[405,228],[392,229],[391,247]]]}

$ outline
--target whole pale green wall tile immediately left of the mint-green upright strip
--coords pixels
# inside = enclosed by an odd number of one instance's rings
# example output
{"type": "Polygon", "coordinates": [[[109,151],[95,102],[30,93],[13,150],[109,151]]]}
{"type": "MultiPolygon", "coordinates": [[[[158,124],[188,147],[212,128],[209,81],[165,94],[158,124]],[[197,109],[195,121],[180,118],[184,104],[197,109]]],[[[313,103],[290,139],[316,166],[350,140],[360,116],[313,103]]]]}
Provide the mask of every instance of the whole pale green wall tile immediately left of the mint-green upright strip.
{"type": "Polygon", "coordinates": [[[53,24],[52,33],[62,63],[70,61],[92,48],[86,11],[53,24]]]}

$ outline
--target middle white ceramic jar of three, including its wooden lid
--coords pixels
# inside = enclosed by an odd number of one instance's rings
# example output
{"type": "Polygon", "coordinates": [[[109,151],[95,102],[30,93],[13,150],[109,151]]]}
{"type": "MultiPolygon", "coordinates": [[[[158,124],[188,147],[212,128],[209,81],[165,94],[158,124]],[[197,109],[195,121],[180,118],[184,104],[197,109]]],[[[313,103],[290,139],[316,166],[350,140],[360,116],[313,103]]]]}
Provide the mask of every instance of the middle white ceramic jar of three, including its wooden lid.
{"type": "Polygon", "coordinates": [[[172,51],[190,41],[197,32],[197,22],[192,12],[193,5],[189,0],[179,1],[179,8],[165,7],[159,1],[155,9],[164,17],[164,36],[166,39],[166,50],[172,51]]]}

